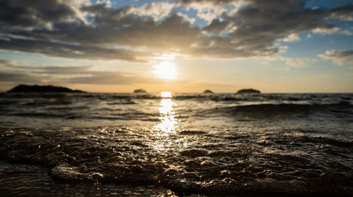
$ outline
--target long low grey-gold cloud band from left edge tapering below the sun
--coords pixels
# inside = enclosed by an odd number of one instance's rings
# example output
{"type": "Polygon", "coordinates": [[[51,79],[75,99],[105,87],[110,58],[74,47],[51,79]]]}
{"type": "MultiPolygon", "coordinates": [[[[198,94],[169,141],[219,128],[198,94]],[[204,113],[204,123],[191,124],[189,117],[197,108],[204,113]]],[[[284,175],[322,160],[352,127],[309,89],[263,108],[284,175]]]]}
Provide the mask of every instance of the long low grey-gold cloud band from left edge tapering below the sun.
{"type": "Polygon", "coordinates": [[[93,65],[38,67],[20,65],[4,59],[0,59],[0,65],[0,82],[16,84],[158,84],[162,82],[134,72],[94,70],[93,65]]]}

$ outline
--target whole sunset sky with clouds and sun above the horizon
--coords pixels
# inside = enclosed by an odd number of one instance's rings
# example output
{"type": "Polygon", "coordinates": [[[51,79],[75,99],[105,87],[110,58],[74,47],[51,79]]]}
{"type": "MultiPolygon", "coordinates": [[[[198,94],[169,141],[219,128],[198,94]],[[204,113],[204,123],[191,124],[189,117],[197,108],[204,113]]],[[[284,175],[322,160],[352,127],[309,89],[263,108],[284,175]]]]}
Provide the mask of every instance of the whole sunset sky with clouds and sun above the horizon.
{"type": "Polygon", "coordinates": [[[0,91],[353,92],[353,1],[0,0],[0,91]]]}

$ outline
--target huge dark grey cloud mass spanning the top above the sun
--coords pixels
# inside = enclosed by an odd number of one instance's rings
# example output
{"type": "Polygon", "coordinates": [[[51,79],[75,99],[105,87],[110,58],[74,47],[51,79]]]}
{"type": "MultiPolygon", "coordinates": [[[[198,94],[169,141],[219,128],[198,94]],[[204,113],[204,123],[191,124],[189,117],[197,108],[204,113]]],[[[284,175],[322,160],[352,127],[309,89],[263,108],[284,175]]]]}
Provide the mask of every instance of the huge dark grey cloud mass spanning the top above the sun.
{"type": "MultiPolygon", "coordinates": [[[[278,40],[335,32],[352,5],[310,9],[306,1],[176,0],[113,8],[90,1],[0,0],[0,49],[61,58],[143,61],[154,53],[235,58],[280,53],[278,40]],[[196,9],[198,19],[175,11],[196,9]],[[140,49],[144,49],[141,51],[140,49]]],[[[346,32],[348,33],[348,32],[346,32]]]]}

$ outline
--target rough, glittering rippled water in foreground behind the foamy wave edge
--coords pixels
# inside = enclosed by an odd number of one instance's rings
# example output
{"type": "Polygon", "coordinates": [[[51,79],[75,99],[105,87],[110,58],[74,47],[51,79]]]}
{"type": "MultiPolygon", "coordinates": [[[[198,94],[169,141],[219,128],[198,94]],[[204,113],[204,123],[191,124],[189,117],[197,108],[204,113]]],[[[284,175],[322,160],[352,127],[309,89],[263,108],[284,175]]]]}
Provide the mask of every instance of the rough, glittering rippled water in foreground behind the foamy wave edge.
{"type": "Polygon", "coordinates": [[[152,184],[208,195],[349,196],[353,188],[352,142],[317,132],[158,136],[127,127],[66,127],[1,129],[0,136],[2,158],[44,166],[67,184],[152,184]]]}

